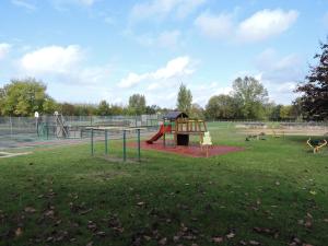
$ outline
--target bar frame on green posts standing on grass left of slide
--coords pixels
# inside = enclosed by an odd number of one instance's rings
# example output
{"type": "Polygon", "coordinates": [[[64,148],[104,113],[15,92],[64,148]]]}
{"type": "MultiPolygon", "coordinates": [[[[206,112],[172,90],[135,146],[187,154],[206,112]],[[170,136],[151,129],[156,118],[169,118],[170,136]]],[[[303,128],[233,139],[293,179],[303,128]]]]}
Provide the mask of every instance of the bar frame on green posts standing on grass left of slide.
{"type": "Polygon", "coordinates": [[[119,131],[122,132],[122,160],[124,162],[127,161],[127,132],[133,132],[137,131],[137,143],[138,143],[138,161],[141,162],[141,151],[140,151],[140,131],[145,130],[147,128],[138,128],[138,127],[131,127],[131,128],[124,128],[124,127],[87,127],[87,130],[91,131],[91,155],[94,155],[95,148],[94,148],[94,140],[95,131],[104,132],[105,136],[105,155],[108,155],[109,153],[109,134],[113,131],[119,131]]]}

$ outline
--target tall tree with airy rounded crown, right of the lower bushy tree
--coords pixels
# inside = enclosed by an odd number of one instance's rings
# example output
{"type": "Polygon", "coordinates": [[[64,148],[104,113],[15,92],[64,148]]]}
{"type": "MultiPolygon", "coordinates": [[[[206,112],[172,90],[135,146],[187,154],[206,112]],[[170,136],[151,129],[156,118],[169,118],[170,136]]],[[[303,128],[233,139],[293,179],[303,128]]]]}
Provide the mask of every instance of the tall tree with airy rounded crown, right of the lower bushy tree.
{"type": "Polygon", "coordinates": [[[268,92],[255,78],[237,78],[233,82],[232,95],[238,105],[242,118],[259,119],[263,117],[263,105],[268,101],[268,92]]]}

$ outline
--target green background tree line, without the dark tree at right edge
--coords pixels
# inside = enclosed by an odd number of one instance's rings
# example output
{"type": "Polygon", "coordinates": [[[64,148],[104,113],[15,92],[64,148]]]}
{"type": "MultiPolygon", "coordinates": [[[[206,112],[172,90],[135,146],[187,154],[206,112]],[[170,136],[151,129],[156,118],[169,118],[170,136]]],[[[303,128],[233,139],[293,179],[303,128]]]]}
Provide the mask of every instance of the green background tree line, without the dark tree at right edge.
{"type": "Polygon", "coordinates": [[[267,103],[268,92],[261,83],[251,77],[237,78],[233,82],[231,95],[212,96],[203,108],[192,104],[192,94],[185,84],[180,84],[175,108],[161,108],[157,105],[147,105],[145,96],[133,94],[127,106],[109,104],[58,103],[47,92],[47,86],[33,78],[12,80],[0,89],[1,116],[33,116],[35,112],[52,115],[60,112],[69,116],[113,116],[165,114],[178,109],[191,117],[208,119],[286,119],[296,117],[293,106],[267,103]]]}

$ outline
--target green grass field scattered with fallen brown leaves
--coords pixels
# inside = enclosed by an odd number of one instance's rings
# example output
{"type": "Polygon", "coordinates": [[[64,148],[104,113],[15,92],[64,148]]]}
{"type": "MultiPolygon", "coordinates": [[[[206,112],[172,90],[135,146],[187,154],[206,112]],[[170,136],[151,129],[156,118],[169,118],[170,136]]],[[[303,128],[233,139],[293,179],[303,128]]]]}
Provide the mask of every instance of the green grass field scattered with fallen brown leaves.
{"type": "Polygon", "coordinates": [[[245,151],[124,164],[97,143],[95,157],[83,144],[0,159],[0,245],[328,245],[328,148],[209,128],[245,151]]]}

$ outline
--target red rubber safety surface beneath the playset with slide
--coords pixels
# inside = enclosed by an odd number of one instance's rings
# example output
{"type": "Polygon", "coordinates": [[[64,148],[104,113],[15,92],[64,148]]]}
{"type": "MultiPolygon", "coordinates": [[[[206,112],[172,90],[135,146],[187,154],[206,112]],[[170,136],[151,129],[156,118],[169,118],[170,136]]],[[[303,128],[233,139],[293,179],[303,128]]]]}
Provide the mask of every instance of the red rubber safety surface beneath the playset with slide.
{"type": "MultiPolygon", "coordinates": [[[[129,143],[129,145],[136,148],[137,143],[129,143]]],[[[164,147],[163,141],[157,141],[153,144],[141,142],[141,150],[155,150],[192,157],[206,157],[207,155],[206,149],[203,148],[203,151],[201,151],[200,145],[174,147],[172,142],[167,142],[166,147],[164,147]]],[[[244,149],[239,147],[212,145],[209,148],[209,156],[222,155],[238,151],[244,151],[244,149]]]]}

